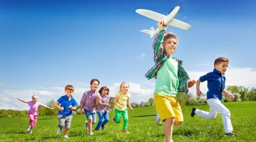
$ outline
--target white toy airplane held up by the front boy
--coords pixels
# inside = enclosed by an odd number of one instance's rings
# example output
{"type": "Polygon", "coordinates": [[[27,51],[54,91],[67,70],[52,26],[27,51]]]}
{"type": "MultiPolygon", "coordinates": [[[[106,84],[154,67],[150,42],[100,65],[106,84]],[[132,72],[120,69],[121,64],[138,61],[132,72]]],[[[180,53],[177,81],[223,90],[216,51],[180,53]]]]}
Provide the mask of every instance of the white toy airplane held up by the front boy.
{"type": "MultiPolygon", "coordinates": [[[[139,13],[140,15],[146,16],[146,17],[154,19],[156,21],[164,20],[163,22],[165,25],[170,25],[170,26],[174,26],[174,27],[177,27],[180,29],[189,30],[191,28],[191,26],[188,23],[174,18],[179,10],[180,10],[180,7],[177,6],[172,11],[170,11],[169,14],[166,16],[163,14],[151,11],[151,10],[146,10],[146,9],[137,9],[136,12],[139,13]]],[[[150,34],[150,37],[152,38],[159,31],[160,31],[159,28],[157,28],[155,30],[153,27],[151,27],[150,30],[141,30],[140,32],[150,34]]]]}

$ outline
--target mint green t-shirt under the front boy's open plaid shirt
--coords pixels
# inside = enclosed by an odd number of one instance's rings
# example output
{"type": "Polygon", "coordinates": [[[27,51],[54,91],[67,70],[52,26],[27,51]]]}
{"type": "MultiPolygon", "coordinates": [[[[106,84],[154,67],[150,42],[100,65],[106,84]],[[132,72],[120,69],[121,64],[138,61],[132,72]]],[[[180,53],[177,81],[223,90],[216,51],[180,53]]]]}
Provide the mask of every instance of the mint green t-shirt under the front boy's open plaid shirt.
{"type": "Polygon", "coordinates": [[[178,96],[178,62],[172,57],[165,60],[162,68],[157,73],[156,88],[154,93],[163,93],[169,96],[178,96]]]}

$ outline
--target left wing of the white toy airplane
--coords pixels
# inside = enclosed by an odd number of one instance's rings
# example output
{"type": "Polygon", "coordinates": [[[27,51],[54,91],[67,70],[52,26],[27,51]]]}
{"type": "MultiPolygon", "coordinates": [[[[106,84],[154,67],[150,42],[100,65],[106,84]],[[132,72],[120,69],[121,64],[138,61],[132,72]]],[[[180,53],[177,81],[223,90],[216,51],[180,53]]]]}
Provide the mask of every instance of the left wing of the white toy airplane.
{"type": "Polygon", "coordinates": [[[151,10],[146,10],[146,9],[137,9],[136,12],[139,13],[140,15],[143,15],[145,17],[151,18],[156,21],[164,20],[166,17],[163,14],[160,14],[151,10]]]}

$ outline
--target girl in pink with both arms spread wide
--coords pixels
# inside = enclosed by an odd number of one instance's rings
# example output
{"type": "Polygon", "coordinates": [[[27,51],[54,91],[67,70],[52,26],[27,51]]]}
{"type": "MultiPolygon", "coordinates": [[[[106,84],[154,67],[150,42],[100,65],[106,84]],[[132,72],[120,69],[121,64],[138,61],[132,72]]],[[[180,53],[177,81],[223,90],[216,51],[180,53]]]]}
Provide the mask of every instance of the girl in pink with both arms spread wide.
{"type": "Polygon", "coordinates": [[[53,109],[50,108],[49,106],[43,105],[39,102],[37,102],[38,97],[36,95],[32,96],[32,101],[24,101],[22,99],[17,98],[19,101],[27,103],[30,106],[29,109],[29,126],[27,127],[27,131],[29,131],[29,133],[32,133],[32,129],[35,127],[36,121],[37,121],[37,112],[38,112],[38,108],[43,106],[49,109],[53,109]]]}

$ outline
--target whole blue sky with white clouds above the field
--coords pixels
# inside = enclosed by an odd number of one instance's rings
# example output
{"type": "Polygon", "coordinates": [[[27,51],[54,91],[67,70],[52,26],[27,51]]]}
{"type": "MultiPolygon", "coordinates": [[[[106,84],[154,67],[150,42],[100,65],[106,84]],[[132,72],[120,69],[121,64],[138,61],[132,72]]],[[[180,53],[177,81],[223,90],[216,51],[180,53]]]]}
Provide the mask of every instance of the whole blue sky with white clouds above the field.
{"type": "MultiPolygon", "coordinates": [[[[183,60],[191,79],[213,69],[214,60],[230,60],[227,85],[256,87],[256,2],[254,1],[0,1],[0,109],[25,110],[16,100],[33,94],[46,104],[64,87],[75,87],[80,102],[93,78],[115,96],[120,82],[130,83],[131,102],[153,98],[155,80],[144,74],[154,65],[153,38],[139,32],[157,21],[136,9],[167,15],[186,31],[168,27],[179,37],[173,57],[183,60]]],[[[201,90],[206,93],[206,83],[201,90]]],[[[195,93],[195,87],[190,89],[195,93]]]]}

